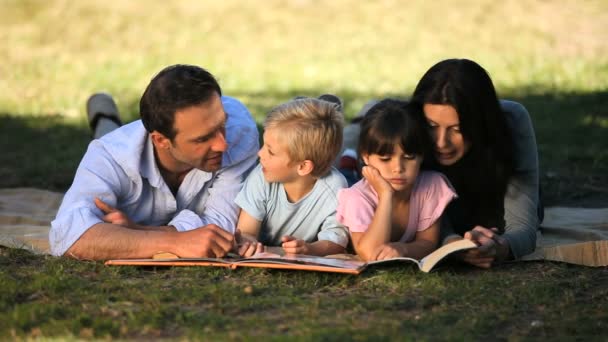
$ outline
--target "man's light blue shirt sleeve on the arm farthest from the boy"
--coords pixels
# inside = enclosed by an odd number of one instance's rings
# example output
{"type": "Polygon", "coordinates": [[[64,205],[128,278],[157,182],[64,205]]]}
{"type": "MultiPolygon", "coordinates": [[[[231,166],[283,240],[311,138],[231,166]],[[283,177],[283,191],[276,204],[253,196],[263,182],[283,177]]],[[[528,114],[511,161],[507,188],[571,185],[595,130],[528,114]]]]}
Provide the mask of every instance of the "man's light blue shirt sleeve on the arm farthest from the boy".
{"type": "Polygon", "coordinates": [[[74,182],[51,222],[51,254],[63,255],[89,228],[103,222],[103,213],[94,203],[95,197],[117,207],[118,198],[128,192],[129,187],[130,180],[123,169],[97,141],[91,142],[76,170],[74,182]]]}

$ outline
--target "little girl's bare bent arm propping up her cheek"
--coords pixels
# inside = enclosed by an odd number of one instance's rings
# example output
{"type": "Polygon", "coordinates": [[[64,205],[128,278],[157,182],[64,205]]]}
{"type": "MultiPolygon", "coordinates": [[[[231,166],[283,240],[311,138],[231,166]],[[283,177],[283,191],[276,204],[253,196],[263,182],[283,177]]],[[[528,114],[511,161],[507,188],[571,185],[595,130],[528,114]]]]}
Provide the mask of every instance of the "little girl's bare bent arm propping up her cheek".
{"type": "Polygon", "coordinates": [[[377,169],[365,166],[363,176],[378,193],[378,207],[368,229],[362,233],[351,233],[355,251],[364,260],[375,260],[376,249],[391,238],[393,189],[377,169]]]}

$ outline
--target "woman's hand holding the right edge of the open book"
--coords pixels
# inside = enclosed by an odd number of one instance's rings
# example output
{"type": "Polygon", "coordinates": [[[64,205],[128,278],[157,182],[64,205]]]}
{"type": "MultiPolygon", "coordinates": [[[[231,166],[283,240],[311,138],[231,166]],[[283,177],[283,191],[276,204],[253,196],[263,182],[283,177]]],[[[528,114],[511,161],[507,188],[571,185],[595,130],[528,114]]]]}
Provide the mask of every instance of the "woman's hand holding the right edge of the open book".
{"type": "Polygon", "coordinates": [[[490,268],[493,262],[506,260],[509,256],[509,243],[497,232],[496,228],[476,226],[464,233],[464,238],[475,242],[479,248],[464,252],[462,260],[481,268],[490,268]]]}

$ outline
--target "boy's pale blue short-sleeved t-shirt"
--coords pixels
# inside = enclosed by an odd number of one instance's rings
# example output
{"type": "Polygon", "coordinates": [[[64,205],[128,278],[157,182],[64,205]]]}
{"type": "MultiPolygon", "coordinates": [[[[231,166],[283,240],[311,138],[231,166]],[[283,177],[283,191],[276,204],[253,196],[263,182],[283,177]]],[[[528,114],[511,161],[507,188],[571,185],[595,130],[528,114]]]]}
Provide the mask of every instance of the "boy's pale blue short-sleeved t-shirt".
{"type": "Polygon", "coordinates": [[[331,168],[306,196],[290,203],[283,184],[266,182],[258,165],[235,202],[262,222],[258,240],[266,246],[280,246],[281,237],[291,235],[306,242],[327,240],[346,247],[348,231],[336,219],[338,190],[346,187],[344,176],[331,168]]]}

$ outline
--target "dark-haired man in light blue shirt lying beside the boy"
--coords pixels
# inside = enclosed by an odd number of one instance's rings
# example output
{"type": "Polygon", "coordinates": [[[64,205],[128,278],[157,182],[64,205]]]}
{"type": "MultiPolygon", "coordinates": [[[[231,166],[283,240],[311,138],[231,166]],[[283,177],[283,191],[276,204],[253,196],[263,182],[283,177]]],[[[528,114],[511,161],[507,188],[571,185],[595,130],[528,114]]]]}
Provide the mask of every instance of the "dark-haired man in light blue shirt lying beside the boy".
{"type": "MultiPolygon", "coordinates": [[[[234,198],[259,142],[245,106],[221,94],[196,66],[156,75],[140,100],[141,120],[89,145],[51,223],[51,252],[95,260],[224,256],[234,244],[234,198]]],[[[89,113],[97,125],[113,115],[89,113]]]]}

